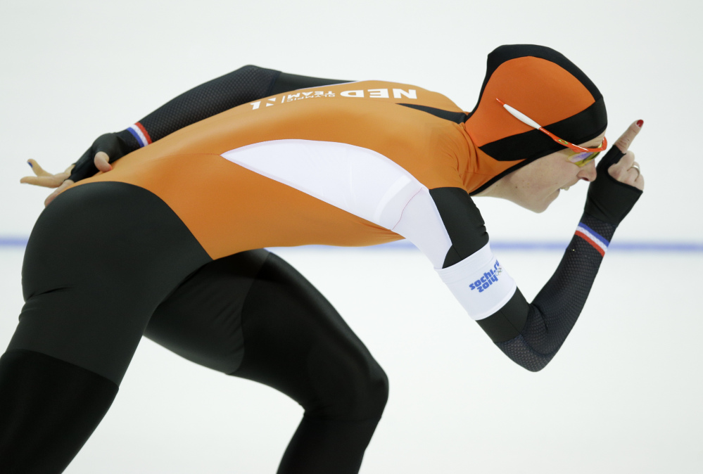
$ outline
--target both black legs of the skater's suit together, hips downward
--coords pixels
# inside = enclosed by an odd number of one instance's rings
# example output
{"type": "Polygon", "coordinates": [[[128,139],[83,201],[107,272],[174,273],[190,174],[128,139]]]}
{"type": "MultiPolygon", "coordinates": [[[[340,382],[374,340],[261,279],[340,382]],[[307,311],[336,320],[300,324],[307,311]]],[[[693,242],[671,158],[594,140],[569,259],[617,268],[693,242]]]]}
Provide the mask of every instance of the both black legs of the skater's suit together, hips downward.
{"type": "Polygon", "coordinates": [[[356,473],[388,398],[383,369],[279,257],[252,250],[213,262],[174,218],[151,193],[122,183],[78,186],[46,208],[27,246],[27,304],[0,364],[0,440],[13,452],[21,445],[34,464],[0,472],[60,473],[108,409],[146,333],[303,406],[280,474],[356,473]],[[70,243],[84,252],[66,255],[70,243]],[[12,363],[8,372],[14,354],[42,362],[37,370],[12,363]]]}

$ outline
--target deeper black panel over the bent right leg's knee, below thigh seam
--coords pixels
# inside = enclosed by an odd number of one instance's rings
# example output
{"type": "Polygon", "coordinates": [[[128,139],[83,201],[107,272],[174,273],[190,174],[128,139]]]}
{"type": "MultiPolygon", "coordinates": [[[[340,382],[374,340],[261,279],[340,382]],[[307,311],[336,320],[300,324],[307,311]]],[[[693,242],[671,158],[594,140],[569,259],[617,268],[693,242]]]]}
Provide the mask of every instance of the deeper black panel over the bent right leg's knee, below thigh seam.
{"type": "Polygon", "coordinates": [[[388,378],[334,307],[270,255],[243,307],[246,349],[232,375],[305,409],[279,474],[355,474],[388,399],[388,378]]]}

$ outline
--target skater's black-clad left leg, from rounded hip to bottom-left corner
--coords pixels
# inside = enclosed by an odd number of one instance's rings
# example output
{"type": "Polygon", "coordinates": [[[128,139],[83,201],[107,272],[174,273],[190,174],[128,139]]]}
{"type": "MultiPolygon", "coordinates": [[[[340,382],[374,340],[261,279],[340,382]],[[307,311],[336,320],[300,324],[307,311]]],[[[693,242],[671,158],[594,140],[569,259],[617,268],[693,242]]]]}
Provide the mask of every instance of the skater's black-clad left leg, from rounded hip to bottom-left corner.
{"type": "Polygon", "coordinates": [[[63,471],[110,406],[154,309],[210,261],[137,186],[77,186],[44,210],[0,359],[1,473],[63,471]]]}

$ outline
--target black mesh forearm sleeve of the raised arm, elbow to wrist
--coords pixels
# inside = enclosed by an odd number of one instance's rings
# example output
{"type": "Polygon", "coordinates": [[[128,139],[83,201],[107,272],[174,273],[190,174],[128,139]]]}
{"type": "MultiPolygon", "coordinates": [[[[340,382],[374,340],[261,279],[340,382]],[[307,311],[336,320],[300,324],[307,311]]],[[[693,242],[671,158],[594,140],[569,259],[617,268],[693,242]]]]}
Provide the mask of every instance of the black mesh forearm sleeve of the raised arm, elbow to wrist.
{"type": "MultiPolygon", "coordinates": [[[[616,228],[588,214],[583,214],[581,222],[607,241],[612,239],[616,228]]],[[[600,253],[583,238],[574,235],[557,271],[530,305],[520,334],[495,345],[525,369],[543,369],[576,324],[601,262],[600,253]]]]}

